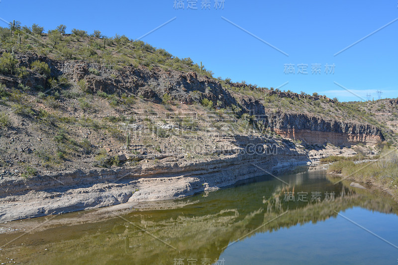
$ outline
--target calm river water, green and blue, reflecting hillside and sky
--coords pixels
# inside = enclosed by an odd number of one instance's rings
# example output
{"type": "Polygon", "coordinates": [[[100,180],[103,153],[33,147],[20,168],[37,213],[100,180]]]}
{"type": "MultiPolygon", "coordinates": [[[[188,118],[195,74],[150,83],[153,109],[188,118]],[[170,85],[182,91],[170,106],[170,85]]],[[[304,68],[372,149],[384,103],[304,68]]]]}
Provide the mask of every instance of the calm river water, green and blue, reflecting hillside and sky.
{"type": "Polygon", "coordinates": [[[397,264],[398,205],[383,192],[306,168],[278,177],[289,187],[263,176],[81,224],[59,222],[87,212],[24,220],[54,225],[0,235],[0,263],[397,264]]]}

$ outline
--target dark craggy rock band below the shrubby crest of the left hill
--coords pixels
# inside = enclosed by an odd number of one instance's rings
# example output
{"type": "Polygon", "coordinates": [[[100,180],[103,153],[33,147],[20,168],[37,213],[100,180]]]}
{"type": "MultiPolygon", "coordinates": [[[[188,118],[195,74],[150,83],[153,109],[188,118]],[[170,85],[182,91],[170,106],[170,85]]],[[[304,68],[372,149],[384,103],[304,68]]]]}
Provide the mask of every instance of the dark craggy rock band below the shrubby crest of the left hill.
{"type": "Polygon", "coordinates": [[[54,63],[55,68],[77,82],[84,79],[87,89],[92,92],[127,93],[143,96],[153,102],[161,102],[162,96],[168,93],[171,97],[184,103],[191,103],[207,98],[214,105],[226,107],[236,104],[231,94],[223,89],[220,83],[195,72],[163,70],[154,67],[126,66],[120,70],[110,70],[99,64],[70,61],[54,63]],[[90,73],[90,69],[99,71],[99,75],[90,73]]]}

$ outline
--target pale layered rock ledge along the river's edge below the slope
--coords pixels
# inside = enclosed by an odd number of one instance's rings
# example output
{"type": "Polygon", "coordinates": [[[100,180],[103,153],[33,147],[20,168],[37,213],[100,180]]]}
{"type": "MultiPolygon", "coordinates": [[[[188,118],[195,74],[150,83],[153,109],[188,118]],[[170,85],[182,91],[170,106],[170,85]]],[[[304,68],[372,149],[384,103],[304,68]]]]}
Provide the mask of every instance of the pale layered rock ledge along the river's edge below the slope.
{"type": "Polygon", "coordinates": [[[235,182],[310,164],[305,152],[234,154],[212,160],[145,163],[134,168],[0,180],[0,221],[122,204],[181,198],[235,182]]]}

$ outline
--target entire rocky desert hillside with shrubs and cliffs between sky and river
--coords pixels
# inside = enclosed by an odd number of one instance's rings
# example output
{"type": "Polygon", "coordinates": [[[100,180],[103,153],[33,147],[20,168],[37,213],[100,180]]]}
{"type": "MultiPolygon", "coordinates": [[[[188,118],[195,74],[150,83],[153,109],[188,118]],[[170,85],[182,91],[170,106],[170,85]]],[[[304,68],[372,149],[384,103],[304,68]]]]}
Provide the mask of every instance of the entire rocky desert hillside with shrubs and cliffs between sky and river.
{"type": "Polygon", "coordinates": [[[396,99],[339,102],[215,79],[125,36],[0,27],[0,220],[372,155],[396,144],[397,113],[396,99]]]}

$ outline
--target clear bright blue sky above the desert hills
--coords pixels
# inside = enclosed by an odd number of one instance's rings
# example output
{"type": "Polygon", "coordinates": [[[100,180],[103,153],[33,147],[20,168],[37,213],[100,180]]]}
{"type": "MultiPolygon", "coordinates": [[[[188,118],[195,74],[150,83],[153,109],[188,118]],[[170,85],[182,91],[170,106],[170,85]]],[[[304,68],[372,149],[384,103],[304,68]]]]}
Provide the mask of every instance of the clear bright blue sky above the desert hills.
{"type": "Polygon", "coordinates": [[[340,100],[360,98],[334,82],[363,98],[370,93],[376,99],[378,89],[383,97],[398,96],[398,20],[334,56],[397,19],[397,0],[224,0],[223,9],[215,9],[210,0],[210,10],[201,9],[205,0],[194,1],[198,9],[187,9],[189,1],[183,1],[184,9],[175,9],[174,0],[1,0],[0,17],[22,25],[37,23],[46,31],[65,24],[67,32],[98,29],[106,36],[131,39],[176,17],[142,40],[180,58],[202,61],[214,77],[274,88],[289,82],[281,89],[340,100]],[[287,64],[295,74],[284,73],[287,64]],[[299,64],[307,65],[307,75],[298,74],[299,64]],[[320,74],[311,74],[313,64],[320,64],[320,74]],[[326,64],[335,65],[334,74],[324,72],[326,64]]]}

